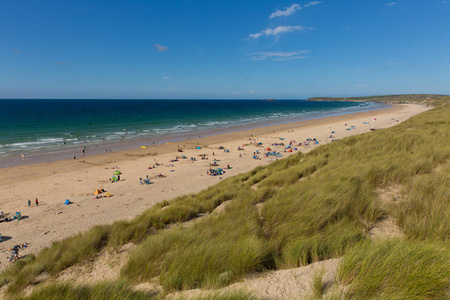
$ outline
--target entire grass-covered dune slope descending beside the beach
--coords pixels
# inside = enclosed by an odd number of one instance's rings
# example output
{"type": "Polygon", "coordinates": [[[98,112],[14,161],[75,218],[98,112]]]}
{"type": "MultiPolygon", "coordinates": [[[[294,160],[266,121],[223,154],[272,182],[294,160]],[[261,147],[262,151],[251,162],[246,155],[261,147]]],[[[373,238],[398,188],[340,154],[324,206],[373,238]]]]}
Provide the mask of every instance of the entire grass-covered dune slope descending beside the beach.
{"type": "MultiPolygon", "coordinates": [[[[450,287],[449,116],[450,106],[440,105],[392,128],[166,201],[131,221],[94,227],[11,265],[0,283],[11,297],[31,285],[37,285],[33,299],[51,299],[58,290],[81,293],[83,288],[45,281],[131,242],[120,280],[108,283],[117,293],[112,298],[131,298],[136,292],[127,286],[155,278],[163,294],[218,288],[249,274],[342,257],[345,298],[444,299],[450,287]],[[380,190],[392,186],[401,195],[386,205],[380,190]],[[404,238],[370,237],[387,216],[404,238]]],[[[64,299],[79,299],[77,293],[64,299]]]]}

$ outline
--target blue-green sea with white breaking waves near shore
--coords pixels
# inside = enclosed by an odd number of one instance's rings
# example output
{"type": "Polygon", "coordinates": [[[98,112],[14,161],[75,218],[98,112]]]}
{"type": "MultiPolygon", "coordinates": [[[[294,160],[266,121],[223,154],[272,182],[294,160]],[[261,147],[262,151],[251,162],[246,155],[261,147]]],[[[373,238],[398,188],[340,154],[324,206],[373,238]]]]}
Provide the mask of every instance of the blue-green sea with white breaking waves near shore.
{"type": "Polygon", "coordinates": [[[383,107],[304,100],[0,100],[0,158],[383,107]]]}

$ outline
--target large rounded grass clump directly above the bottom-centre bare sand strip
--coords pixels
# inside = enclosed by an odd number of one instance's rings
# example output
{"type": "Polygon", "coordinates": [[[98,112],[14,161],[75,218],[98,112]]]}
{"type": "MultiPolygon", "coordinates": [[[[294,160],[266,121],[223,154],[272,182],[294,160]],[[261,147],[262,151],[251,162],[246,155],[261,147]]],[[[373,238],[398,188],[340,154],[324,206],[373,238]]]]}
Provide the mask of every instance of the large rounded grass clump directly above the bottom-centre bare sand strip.
{"type": "Polygon", "coordinates": [[[121,275],[138,282],[160,275],[168,291],[218,287],[261,271],[269,254],[253,204],[236,201],[192,227],[149,237],[130,254],[121,275]]]}

